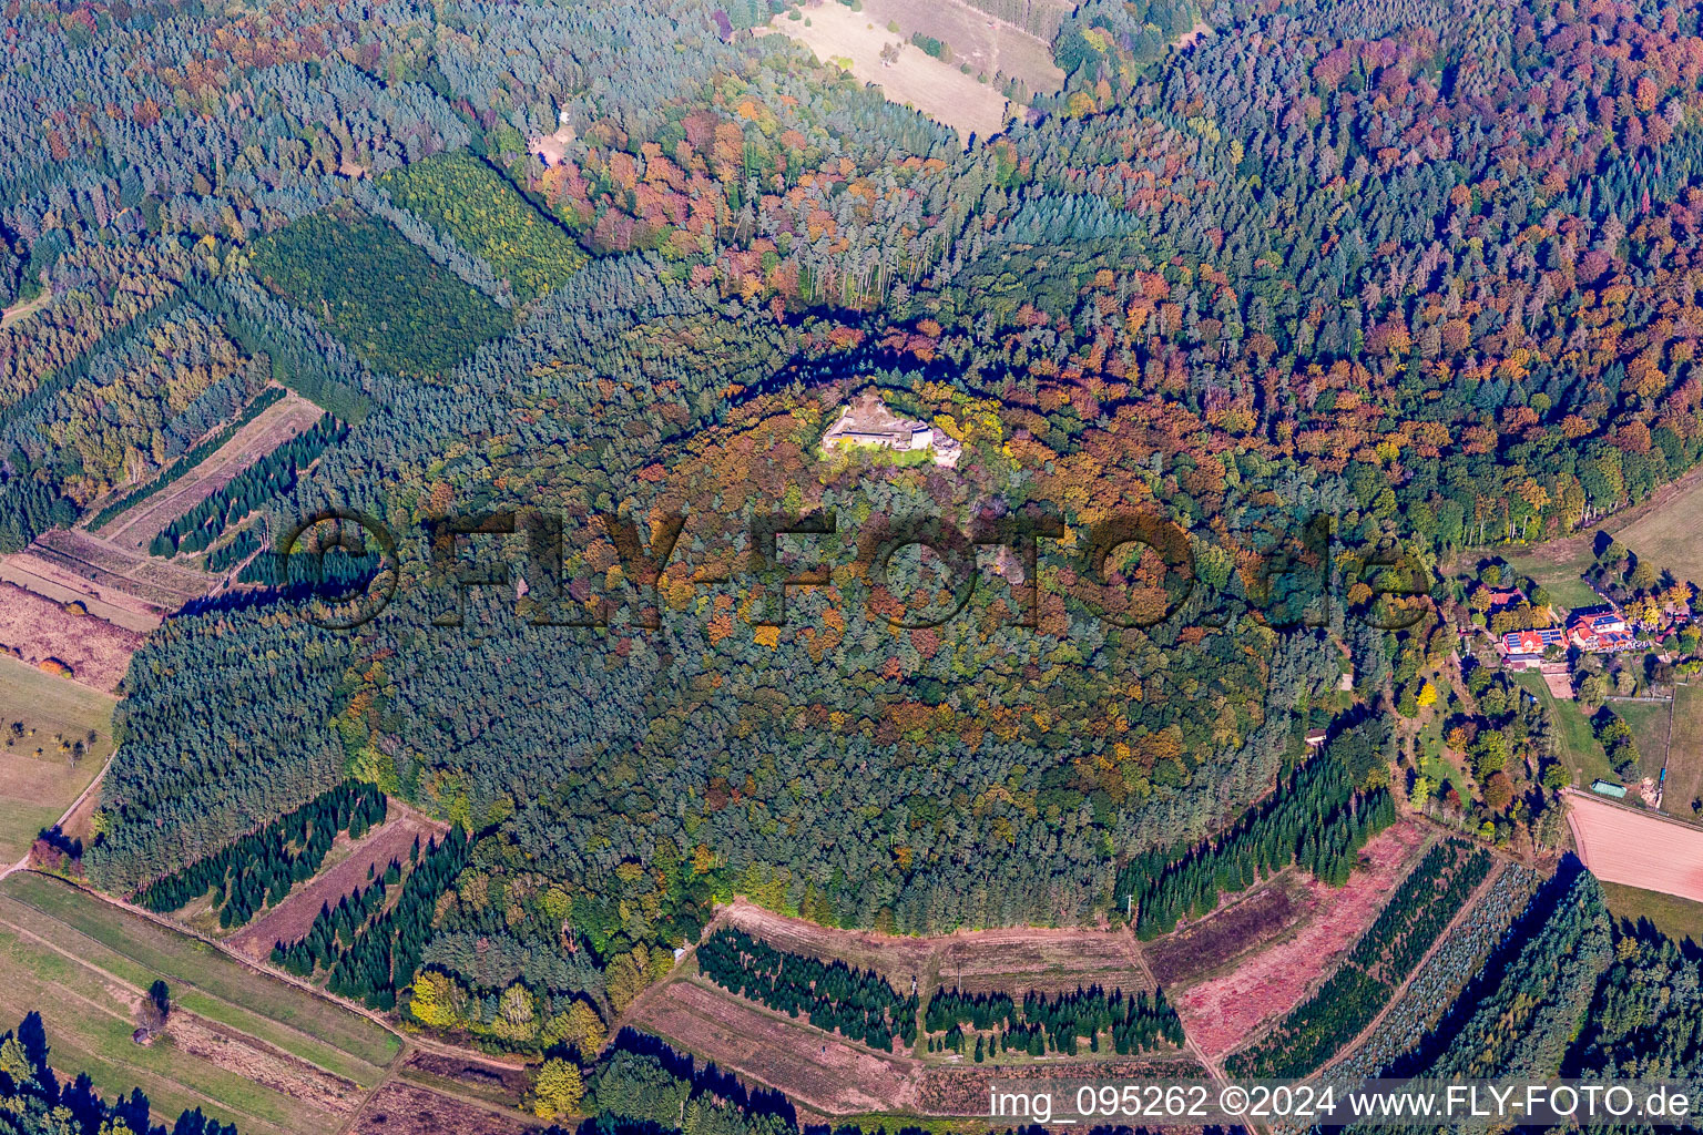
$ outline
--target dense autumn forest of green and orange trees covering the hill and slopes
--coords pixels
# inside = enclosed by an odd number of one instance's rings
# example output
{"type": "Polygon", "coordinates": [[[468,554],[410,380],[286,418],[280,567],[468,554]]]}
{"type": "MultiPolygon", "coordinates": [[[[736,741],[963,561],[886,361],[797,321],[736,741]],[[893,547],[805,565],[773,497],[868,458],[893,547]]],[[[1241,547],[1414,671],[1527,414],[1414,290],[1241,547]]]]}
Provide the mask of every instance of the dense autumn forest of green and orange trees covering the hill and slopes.
{"type": "MultiPolygon", "coordinates": [[[[1425,577],[1703,454],[1698,12],[981,7],[1068,82],[966,146],[695,0],[12,0],[0,298],[51,303],[0,330],[0,550],[269,381],[334,420],[153,551],[262,505],[400,550],[353,631],[278,587],[150,636],[92,878],[133,893],[376,784],[472,836],[407,910],[419,1019],[540,1048],[734,892],[940,933],[1173,924],[1218,893],[1202,861],[1340,881],[1393,817],[1398,687],[1453,647],[1422,604],[1376,618],[1379,548],[1425,577]],[[957,466],[821,454],[865,388],[957,466]],[[433,524],[521,509],[444,579],[433,524]],[[785,626],[775,512],[836,524],[778,541],[833,565],[785,626]],[[857,546],[916,514],[1056,521],[1056,555],[972,548],[974,602],[909,626],[962,580],[857,546]],[[1085,534],[1129,516],[1175,526],[1197,585],[1122,545],[1100,587],[1085,534]],[[1279,556],[1304,572],[1274,585],[1279,556]],[[1337,842],[1216,854],[1323,727],[1337,842]],[[504,1016],[516,989],[536,1012],[504,1016]]],[[[1563,929],[1594,965],[1597,927],[1563,929]]],[[[416,995],[332,939],[291,965],[416,995]]]]}

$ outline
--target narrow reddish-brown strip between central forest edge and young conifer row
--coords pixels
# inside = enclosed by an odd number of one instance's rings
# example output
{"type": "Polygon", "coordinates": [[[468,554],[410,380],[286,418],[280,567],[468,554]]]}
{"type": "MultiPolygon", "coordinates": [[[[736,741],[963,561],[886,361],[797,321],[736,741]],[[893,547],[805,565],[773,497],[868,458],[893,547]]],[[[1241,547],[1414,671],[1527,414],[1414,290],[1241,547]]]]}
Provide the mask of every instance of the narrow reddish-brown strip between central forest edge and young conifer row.
{"type": "Polygon", "coordinates": [[[901,938],[826,929],[743,898],[727,907],[722,919],[778,950],[875,970],[901,994],[911,992],[913,977],[925,992],[933,982],[1018,997],[1029,990],[1056,994],[1095,984],[1127,990],[1151,985],[1136,960],[1134,939],[1121,931],[1015,927],[901,938]]]}

